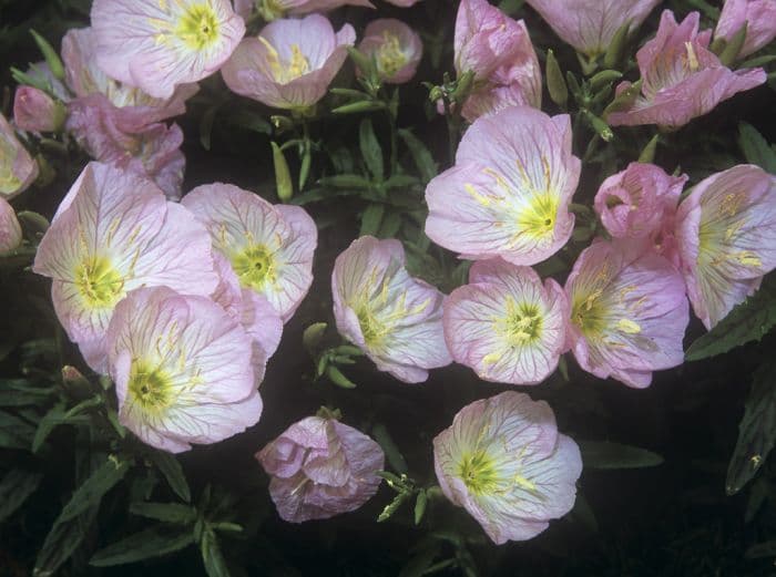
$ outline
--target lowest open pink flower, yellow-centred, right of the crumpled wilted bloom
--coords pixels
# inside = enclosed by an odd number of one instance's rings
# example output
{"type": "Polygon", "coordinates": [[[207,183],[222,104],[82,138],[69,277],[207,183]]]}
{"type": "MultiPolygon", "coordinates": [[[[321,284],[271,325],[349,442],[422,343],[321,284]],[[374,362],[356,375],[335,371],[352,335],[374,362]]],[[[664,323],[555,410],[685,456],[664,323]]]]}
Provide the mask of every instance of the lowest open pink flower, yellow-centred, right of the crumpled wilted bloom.
{"type": "Polygon", "coordinates": [[[501,545],[571,511],[582,457],[549,404],[508,391],[458,412],[433,440],[433,467],[445,496],[501,545]]]}

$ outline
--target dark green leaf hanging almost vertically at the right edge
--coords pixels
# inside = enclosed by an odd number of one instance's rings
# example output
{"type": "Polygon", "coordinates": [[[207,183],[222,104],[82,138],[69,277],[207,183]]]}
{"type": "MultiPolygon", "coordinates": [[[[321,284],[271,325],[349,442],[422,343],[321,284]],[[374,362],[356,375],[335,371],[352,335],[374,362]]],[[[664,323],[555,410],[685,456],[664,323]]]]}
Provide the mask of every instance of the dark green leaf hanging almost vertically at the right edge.
{"type": "Polygon", "coordinates": [[[754,477],[776,442],[776,362],[762,365],[754,375],[738,441],[727,467],[725,491],[735,495],[754,477]]]}

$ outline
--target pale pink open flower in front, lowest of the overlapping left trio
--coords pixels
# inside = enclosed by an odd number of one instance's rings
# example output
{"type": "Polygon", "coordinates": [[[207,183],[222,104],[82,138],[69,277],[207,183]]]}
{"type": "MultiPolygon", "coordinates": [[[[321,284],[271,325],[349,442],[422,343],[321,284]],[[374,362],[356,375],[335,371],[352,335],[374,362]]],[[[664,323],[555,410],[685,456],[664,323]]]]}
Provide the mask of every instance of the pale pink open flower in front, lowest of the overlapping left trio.
{"type": "Polygon", "coordinates": [[[212,300],[166,287],[133,290],[106,340],[119,422],[144,443],[180,453],[258,421],[251,340],[212,300]]]}

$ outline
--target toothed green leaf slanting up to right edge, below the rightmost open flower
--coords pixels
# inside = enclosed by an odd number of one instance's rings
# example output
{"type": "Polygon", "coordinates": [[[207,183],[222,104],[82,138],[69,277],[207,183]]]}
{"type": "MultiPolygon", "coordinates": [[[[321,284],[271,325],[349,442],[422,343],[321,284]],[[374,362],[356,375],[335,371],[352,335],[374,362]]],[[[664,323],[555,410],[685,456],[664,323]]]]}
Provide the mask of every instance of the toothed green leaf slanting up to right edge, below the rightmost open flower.
{"type": "Polygon", "coordinates": [[[735,307],[711,331],[695,340],[685,359],[698,361],[752,341],[759,341],[776,326],[776,275],[765,278],[752,297],[735,307]]]}

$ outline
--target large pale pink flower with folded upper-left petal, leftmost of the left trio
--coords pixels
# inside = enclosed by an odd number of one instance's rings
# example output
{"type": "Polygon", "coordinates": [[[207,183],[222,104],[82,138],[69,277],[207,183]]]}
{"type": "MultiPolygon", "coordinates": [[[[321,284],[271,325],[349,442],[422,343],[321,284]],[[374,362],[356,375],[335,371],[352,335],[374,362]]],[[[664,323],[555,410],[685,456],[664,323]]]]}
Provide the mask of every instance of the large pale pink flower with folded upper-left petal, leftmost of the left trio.
{"type": "Polygon", "coordinates": [[[151,181],[100,163],[62,200],[32,270],[53,279],[57,316],[99,372],[108,323],[127,292],[166,286],[210,296],[218,282],[204,227],[151,181]]]}

